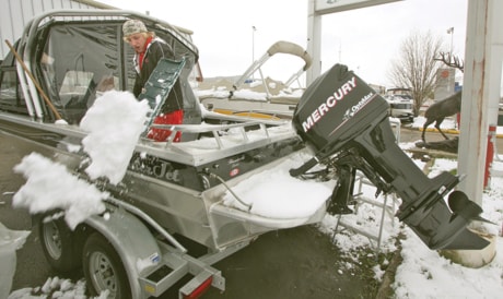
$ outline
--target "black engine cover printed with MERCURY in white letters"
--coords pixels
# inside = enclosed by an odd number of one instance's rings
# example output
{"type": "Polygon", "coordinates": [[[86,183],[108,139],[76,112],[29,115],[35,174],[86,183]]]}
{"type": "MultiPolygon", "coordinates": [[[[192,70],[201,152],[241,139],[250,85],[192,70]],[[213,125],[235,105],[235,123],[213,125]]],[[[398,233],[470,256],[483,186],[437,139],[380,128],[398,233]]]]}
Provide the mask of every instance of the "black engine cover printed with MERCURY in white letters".
{"type": "Polygon", "coordinates": [[[304,141],[331,153],[386,119],[388,108],[387,101],[359,76],[336,64],[305,91],[293,124],[304,141]]]}

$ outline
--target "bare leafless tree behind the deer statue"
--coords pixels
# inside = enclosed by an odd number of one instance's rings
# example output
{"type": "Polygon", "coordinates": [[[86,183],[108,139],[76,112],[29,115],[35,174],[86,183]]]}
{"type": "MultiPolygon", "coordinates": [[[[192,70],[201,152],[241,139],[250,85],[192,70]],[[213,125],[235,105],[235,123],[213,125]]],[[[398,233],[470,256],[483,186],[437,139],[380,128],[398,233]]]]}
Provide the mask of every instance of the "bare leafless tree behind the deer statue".
{"type": "Polygon", "coordinates": [[[442,46],[442,39],[434,37],[431,32],[414,32],[402,41],[399,57],[391,62],[389,79],[397,87],[411,89],[416,116],[435,89],[436,72],[441,67],[435,57],[442,46]]]}

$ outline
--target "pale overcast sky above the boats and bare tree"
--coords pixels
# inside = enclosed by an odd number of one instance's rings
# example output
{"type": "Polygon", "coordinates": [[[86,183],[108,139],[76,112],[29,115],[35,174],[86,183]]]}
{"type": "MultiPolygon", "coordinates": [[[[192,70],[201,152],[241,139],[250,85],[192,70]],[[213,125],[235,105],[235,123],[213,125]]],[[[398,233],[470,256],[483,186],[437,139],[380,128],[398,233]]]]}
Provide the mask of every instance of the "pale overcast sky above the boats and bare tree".
{"type": "MultiPolygon", "coordinates": [[[[277,40],[306,48],[308,0],[98,1],[149,11],[154,17],[194,31],[206,77],[242,74],[253,58],[258,59],[277,40]]],[[[445,51],[451,50],[453,37],[453,52],[464,58],[466,16],[467,0],[403,0],[324,15],[321,71],[341,62],[366,82],[388,86],[389,62],[414,31],[431,31],[445,41],[445,51]],[[453,35],[447,34],[449,27],[454,27],[453,35]]],[[[285,81],[303,65],[301,60],[281,59],[278,56],[269,61],[278,80],[285,81]]]]}

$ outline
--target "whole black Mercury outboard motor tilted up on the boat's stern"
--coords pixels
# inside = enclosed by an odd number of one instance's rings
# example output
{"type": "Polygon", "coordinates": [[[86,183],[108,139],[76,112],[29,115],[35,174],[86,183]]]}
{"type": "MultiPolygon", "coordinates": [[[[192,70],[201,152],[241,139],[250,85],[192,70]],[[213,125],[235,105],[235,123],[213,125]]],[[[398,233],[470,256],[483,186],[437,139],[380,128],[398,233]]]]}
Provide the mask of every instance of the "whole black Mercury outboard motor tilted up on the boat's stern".
{"type": "Polygon", "coordinates": [[[337,169],[329,213],[351,212],[347,202],[358,169],[378,193],[401,198],[396,216],[430,249],[482,249],[489,243],[466,228],[481,219],[482,208],[465,193],[451,192],[459,178],[448,172],[428,178],[397,145],[386,100],[346,65],[334,65],[307,87],[292,122],[315,155],[290,174],[301,176],[318,163],[337,169]],[[447,207],[443,198],[449,192],[447,207]]]}

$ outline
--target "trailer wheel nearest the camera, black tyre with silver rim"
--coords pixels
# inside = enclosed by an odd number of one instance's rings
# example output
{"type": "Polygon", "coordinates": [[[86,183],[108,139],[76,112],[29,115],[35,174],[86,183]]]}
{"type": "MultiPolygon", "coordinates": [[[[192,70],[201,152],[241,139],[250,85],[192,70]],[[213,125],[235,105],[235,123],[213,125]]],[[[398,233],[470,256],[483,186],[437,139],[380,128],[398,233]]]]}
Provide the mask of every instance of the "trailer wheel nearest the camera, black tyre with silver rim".
{"type": "Polygon", "coordinates": [[[131,298],[131,289],[120,256],[101,234],[92,234],[85,241],[83,270],[91,296],[100,296],[108,289],[108,299],[131,298]]]}

